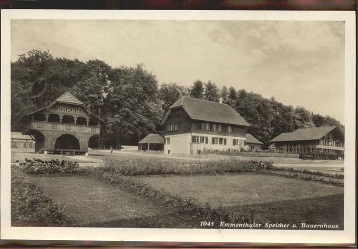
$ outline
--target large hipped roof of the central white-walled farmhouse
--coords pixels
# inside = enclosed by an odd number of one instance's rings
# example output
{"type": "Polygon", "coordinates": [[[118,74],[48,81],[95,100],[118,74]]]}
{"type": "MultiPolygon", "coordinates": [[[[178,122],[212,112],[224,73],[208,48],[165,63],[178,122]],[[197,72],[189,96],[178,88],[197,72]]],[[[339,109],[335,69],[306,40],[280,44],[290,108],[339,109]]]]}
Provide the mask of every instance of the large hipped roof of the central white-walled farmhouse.
{"type": "Polygon", "coordinates": [[[178,107],[188,113],[191,119],[250,126],[250,124],[227,104],[221,104],[204,99],[181,97],[170,108],[163,118],[162,125],[167,120],[170,110],[178,107]]]}

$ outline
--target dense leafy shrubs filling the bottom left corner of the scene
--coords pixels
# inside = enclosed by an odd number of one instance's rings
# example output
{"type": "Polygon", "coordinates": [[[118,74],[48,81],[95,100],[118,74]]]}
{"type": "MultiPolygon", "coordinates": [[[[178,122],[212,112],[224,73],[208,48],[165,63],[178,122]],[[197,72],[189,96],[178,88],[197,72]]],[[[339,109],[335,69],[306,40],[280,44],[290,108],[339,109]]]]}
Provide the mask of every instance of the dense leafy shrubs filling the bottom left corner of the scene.
{"type": "Polygon", "coordinates": [[[18,166],[11,170],[11,226],[65,226],[65,216],[52,199],[18,166]]]}

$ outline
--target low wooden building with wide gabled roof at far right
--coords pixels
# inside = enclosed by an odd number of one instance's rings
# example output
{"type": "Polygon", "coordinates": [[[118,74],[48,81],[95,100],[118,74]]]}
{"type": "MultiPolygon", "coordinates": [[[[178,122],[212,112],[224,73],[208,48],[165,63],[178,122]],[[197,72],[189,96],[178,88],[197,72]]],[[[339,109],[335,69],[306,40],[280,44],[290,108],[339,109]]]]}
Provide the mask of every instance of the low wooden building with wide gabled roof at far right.
{"type": "Polygon", "coordinates": [[[300,154],[337,155],[344,153],[344,134],[336,126],[297,129],[270,140],[276,149],[300,154]]]}

